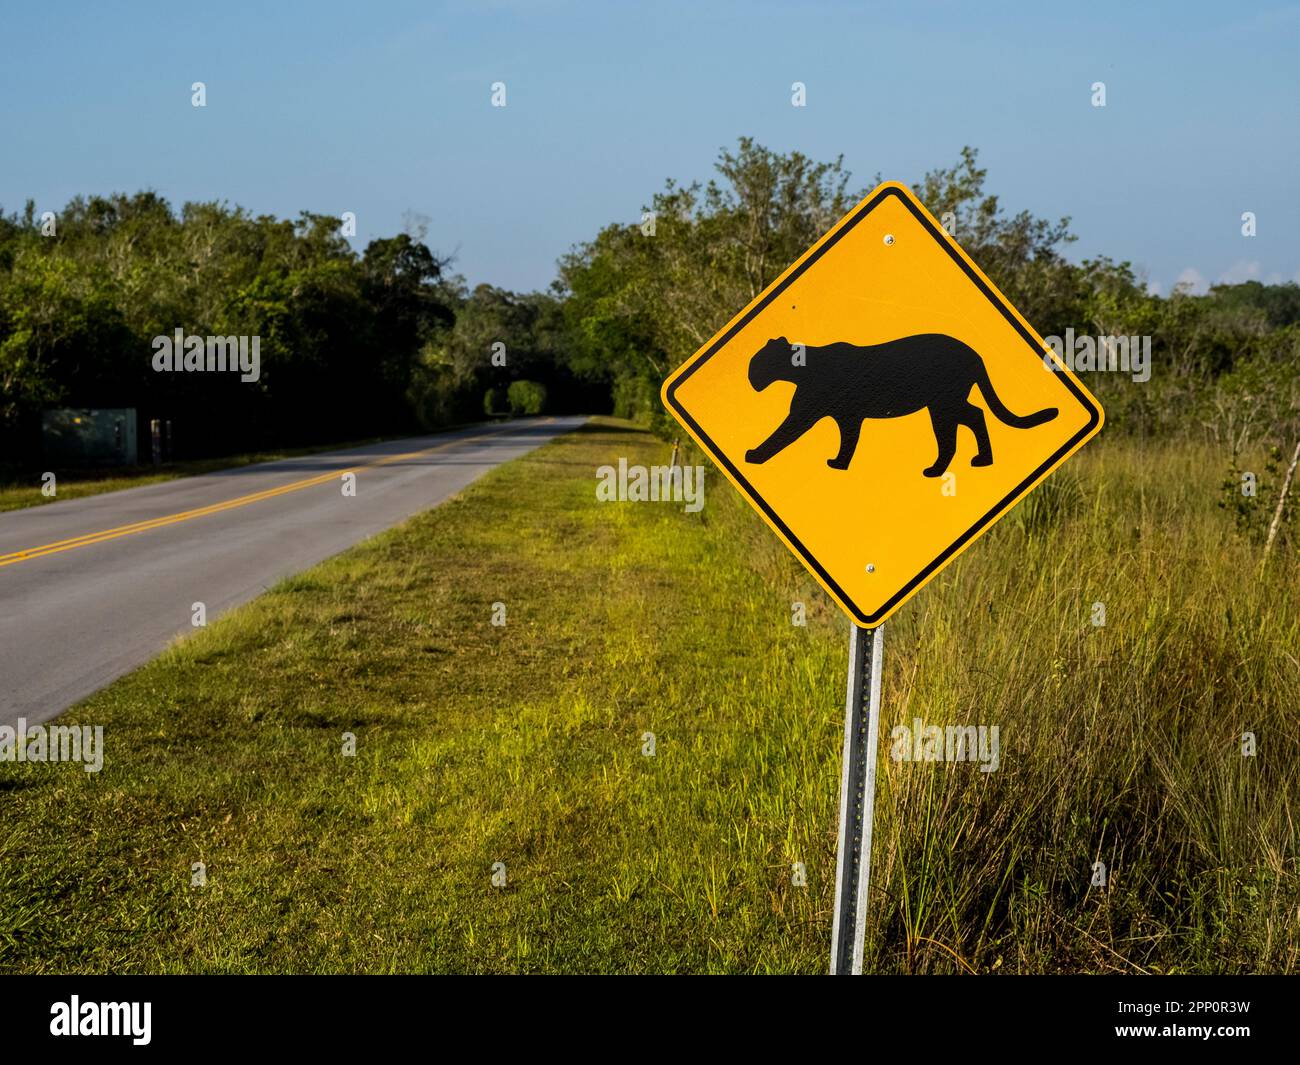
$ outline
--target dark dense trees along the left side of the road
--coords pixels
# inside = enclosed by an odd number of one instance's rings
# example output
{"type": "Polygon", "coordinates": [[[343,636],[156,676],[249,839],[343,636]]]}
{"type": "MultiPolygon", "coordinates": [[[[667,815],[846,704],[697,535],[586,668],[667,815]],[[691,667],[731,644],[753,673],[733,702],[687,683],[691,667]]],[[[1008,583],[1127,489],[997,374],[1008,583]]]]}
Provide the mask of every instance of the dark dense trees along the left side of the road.
{"type": "Polygon", "coordinates": [[[39,455],[53,406],[172,419],[203,455],[473,420],[521,376],[601,404],[559,367],[554,298],[468,291],[410,234],[358,254],[339,230],[152,192],[74,199],[52,231],[30,203],[0,213],[0,456],[39,455]],[[177,329],[259,337],[259,380],[156,372],[177,329]]]}

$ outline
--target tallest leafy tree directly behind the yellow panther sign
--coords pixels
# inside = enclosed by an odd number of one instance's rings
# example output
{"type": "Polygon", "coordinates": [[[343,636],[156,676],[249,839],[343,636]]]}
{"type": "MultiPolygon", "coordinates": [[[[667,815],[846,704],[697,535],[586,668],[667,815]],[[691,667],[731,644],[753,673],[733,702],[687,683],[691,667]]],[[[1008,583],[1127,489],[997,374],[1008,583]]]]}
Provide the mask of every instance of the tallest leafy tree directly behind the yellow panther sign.
{"type": "MultiPolygon", "coordinates": [[[[1069,220],[1006,217],[984,192],[972,148],[932,170],[919,189],[935,213],[950,212],[962,243],[1037,320],[1079,312],[1076,268],[1061,255],[1069,220]]],[[[602,229],[560,263],[578,360],[602,367],[624,411],[666,425],[658,385],[740,308],[822,237],[862,192],[842,159],[818,163],[741,138],[723,150],[707,185],[668,181],[637,224],[602,229]],[[629,381],[629,378],[632,378],[629,381]]]]}

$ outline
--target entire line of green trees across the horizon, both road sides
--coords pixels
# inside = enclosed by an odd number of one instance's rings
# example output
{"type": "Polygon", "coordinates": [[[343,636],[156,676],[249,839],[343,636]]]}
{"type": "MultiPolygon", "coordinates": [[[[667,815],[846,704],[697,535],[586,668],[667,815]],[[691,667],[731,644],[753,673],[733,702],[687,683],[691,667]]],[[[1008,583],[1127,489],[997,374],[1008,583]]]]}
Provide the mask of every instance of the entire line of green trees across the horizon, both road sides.
{"type": "MultiPolygon", "coordinates": [[[[749,138],[715,169],[670,179],[524,294],[471,290],[421,231],[356,251],[311,212],[177,211],[155,192],[77,198],[52,225],[31,203],[0,212],[0,456],[34,462],[53,406],[173,419],[194,455],[541,410],[668,433],[667,373],[871,187],[749,138]],[[259,380],[153,372],[152,339],[178,328],[260,337],[259,380]]],[[[971,148],[913,185],[1039,333],[1150,337],[1148,381],[1086,375],[1109,432],[1201,434],[1234,456],[1300,436],[1300,287],[1156,295],[1128,263],[1067,259],[1069,218],[1009,213],[984,186],[971,148]]]]}

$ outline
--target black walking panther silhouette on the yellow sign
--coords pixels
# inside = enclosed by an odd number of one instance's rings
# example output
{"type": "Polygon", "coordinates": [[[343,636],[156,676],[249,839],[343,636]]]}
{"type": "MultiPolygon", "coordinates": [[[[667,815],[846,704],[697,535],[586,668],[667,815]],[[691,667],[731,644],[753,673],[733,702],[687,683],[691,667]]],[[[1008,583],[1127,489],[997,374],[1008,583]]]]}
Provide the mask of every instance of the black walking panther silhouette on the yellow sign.
{"type": "Polygon", "coordinates": [[[805,346],[803,358],[785,337],[763,345],[750,359],[749,384],[763,391],[775,381],[794,384],[790,412],[745,462],[764,463],[789,447],[823,417],[840,427],[840,453],[827,459],[832,469],[848,469],[858,449],[862,423],[868,417],[902,417],[928,410],[939,458],[926,467],[927,477],[940,477],[957,453],[957,427],[975,434],[979,451],[971,466],[992,466],[993,449],[984,411],[970,402],[979,388],[988,408],[1014,429],[1032,429],[1057,416],[1056,407],[1031,415],[1013,414],[998,399],[984,360],[972,347],[942,333],[922,333],[876,345],[828,343],[805,346]]]}

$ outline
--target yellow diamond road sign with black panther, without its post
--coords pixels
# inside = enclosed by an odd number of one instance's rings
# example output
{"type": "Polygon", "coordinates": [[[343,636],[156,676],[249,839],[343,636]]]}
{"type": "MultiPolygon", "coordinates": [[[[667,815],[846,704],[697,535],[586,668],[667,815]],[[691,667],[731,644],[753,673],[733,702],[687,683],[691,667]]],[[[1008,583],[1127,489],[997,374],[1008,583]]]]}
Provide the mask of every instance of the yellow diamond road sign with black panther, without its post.
{"type": "Polygon", "coordinates": [[[1101,407],[909,189],[881,185],[663,386],[859,625],[1101,429],[1101,407]]]}

